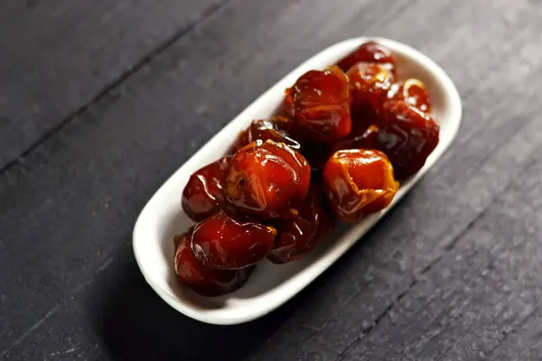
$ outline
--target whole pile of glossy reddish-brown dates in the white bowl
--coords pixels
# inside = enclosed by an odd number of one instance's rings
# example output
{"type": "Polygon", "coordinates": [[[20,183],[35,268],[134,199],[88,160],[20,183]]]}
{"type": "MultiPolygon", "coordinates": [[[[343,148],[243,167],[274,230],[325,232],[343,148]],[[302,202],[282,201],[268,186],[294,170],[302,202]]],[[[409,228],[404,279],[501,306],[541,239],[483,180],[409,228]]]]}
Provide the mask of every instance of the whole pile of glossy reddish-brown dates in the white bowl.
{"type": "Polygon", "coordinates": [[[182,208],[196,226],[175,236],[179,282],[233,292],[255,265],[311,252],[335,218],[388,207],[439,141],[418,79],[397,79],[391,52],[362,44],[285,90],[277,116],[257,119],[229,155],[192,174],[182,208]]]}

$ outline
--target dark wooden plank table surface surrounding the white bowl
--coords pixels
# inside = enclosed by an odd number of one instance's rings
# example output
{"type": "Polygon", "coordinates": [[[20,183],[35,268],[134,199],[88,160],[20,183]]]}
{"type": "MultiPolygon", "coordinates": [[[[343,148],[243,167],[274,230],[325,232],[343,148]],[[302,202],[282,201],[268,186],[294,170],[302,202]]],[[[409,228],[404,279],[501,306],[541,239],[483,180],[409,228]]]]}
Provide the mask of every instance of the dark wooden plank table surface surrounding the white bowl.
{"type": "Polygon", "coordinates": [[[0,359],[542,357],[539,0],[7,0],[0,10],[0,359]],[[452,148],[263,319],[162,301],[131,232],[154,190],[305,58],[381,35],[446,69],[452,148]]]}

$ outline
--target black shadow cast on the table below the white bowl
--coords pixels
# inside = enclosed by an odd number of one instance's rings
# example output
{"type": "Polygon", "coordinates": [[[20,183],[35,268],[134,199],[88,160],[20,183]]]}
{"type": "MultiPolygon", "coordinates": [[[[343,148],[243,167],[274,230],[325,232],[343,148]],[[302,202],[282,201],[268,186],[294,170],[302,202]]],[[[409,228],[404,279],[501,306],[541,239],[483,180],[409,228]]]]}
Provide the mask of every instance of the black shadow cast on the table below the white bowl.
{"type": "Polygon", "coordinates": [[[119,252],[93,282],[87,300],[93,329],[114,360],[239,360],[269,338],[306,297],[305,292],[245,324],[210,325],[167,305],[145,282],[131,249],[119,252]]]}

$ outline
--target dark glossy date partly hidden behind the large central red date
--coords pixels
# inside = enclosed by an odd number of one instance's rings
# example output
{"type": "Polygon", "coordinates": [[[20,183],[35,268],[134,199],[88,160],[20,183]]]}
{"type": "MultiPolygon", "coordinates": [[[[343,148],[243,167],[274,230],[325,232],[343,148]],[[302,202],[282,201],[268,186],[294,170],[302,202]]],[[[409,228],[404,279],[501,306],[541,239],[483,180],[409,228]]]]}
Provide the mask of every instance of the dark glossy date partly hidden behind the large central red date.
{"type": "Polygon", "coordinates": [[[266,142],[266,140],[272,140],[275,142],[285,143],[294,151],[299,152],[301,150],[301,144],[294,140],[292,135],[294,122],[284,116],[276,116],[271,120],[257,119],[252,121],[250,126],[239,134],[237,142],[233,145],[233,153],[239,149],[248,145],[249,143],[260,140],[266,142]]]}

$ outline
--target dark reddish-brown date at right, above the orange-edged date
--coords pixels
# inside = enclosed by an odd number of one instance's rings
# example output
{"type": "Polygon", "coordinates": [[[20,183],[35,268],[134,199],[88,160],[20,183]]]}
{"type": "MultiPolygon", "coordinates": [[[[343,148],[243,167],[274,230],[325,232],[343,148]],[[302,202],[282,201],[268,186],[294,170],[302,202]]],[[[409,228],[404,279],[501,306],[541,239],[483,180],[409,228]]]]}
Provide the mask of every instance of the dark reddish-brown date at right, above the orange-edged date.
{"type": "Polygon", "coordinates": [[[388,155],[398,180],[405,180],[425,164],[439,141],[435,120],[404,101],[384,104],[385,124],[378,129],[377,148],[388,155]]]}

